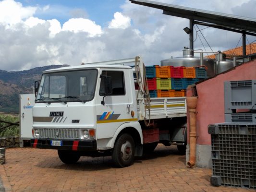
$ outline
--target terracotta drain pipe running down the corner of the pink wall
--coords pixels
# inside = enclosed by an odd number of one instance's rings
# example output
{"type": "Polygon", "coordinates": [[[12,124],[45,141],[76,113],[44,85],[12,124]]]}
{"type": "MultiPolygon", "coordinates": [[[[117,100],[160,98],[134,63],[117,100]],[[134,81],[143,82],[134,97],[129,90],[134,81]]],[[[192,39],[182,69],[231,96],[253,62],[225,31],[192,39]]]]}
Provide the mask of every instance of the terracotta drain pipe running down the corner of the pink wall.
{"type": "Polygon", "coordinates": [[[196,146],[196,104],[197,96],[186,97],[187,107],[189,109],[189,161],[187,166],[192,168],[195,165],[195,146],[196,146]]]}

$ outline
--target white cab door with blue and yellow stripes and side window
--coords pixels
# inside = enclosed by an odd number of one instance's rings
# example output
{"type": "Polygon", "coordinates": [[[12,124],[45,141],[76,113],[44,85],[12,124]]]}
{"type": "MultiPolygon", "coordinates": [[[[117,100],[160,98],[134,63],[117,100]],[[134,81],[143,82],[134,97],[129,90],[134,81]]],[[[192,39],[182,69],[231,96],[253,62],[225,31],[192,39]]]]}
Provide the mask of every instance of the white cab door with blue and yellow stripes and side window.
{"type": "Polygon", "coordinates": [[[101,104],[103,100],[102,83],[97,96],[97,138],[104,139],[112,138],[122,123],[133,121],[134,119],[130,112],[132,96],[129,73],[121,69],[101,69],[100,74],[111,77],[112,81],[112,94],[104,97],[105,105],[101,104]]]}

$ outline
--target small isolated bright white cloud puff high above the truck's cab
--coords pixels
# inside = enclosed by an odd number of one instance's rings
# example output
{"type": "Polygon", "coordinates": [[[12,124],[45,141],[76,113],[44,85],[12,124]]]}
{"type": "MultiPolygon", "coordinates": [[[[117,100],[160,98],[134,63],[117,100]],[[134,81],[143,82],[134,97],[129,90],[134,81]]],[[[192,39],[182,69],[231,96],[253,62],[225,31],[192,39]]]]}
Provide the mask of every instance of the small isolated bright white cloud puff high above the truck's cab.
{"type": "Polygon", "coordinates": [[[121,12],[115,12],[114,19],[109,24],[110,29],[126,29],[129,26],[131,26],[131,18],[121,12]]]}

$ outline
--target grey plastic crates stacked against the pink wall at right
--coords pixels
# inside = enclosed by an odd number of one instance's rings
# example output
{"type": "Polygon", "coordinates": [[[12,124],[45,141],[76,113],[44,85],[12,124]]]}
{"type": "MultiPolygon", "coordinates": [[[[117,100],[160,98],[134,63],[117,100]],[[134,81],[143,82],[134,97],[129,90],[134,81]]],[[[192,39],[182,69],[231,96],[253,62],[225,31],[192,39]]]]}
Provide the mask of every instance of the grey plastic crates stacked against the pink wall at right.
{"type": "Polygon", "coordinates": [[[256,80],[224,82],[224,99],[226,122],[208,125],[211,184],[256,189],[256,80]]]}

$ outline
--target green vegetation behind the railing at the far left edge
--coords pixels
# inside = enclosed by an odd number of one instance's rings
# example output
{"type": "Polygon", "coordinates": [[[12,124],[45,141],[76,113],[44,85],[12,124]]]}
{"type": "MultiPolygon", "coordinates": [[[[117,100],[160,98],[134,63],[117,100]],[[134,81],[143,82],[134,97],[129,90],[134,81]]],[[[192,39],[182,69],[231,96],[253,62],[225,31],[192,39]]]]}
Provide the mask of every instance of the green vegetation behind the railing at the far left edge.
{"type": "MultiPolygon", "coordinates": [[[[19,121],[17,116],[12,115],[0,115],[0,120],[16,123],[19,121]]],[[[8,125],[8,123],[0,122],[0,128],[8,125]]],[[[8,128],[4,128],[0,130],[0,137],[10,137],[10,136],[17,136],[19,135],[20,128],[19,126],[12,125],[8,128]]]]}

